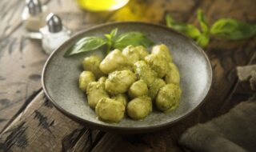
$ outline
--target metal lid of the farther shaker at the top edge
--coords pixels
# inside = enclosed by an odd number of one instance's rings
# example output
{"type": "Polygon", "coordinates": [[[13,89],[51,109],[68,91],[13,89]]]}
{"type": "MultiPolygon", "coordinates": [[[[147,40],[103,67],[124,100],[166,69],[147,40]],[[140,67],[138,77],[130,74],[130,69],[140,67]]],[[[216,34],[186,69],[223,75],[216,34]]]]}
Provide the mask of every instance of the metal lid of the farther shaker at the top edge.
{"type": "Polygon", "coordinates": [[[36,15],[42,12],[42,5],[39,0],[26,0],[26,7],[31,15],[36,15]]]}

